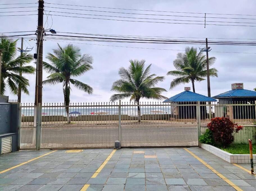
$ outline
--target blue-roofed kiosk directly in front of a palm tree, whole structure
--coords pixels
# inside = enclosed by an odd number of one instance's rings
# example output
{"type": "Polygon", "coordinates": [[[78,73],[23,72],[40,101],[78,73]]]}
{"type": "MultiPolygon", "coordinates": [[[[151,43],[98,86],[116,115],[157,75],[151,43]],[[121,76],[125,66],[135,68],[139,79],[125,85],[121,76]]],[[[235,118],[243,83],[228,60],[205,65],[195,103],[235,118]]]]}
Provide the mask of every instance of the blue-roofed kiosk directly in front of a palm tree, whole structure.
{"type": "MultiPolygon", "coordinates": [[[[201,95],[199,93],[194,93],[192,91],[189,91],[189,87],[184,88],[185,91],[172,96],[171,98],[164,100],[164,103],[176,103],[178,105],[186,105],[186,104],[197,104],[197,102],[200,102],[200,104],[206,104],[205,102],[216,102],[217,100],[201,95]]],[[[196,118],[196,106],[173,106],[171,108],[173,110],[172,115],[178,115],[179,119],[191,119],[196,118]]],[[[205,119],[207,110],[206,106],[200,106],[201,110],[201,119],[205,119]]]]}

